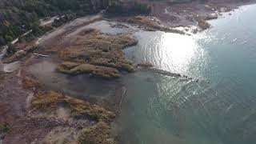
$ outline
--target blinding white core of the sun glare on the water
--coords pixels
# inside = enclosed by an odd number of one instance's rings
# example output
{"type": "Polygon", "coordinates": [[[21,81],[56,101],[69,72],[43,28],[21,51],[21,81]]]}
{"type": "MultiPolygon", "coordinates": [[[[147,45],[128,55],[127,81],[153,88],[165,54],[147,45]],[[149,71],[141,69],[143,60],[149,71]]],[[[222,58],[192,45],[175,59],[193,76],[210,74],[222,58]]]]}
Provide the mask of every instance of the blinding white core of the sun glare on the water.
{"type": "Polygon", "coordinates": [[[180,34],[162,34],[158,50],[162,54],[161,67],[166,70],[174,70],[185,73],[190,63],[197,55],[198,45],[194,38],[180,34]]]}

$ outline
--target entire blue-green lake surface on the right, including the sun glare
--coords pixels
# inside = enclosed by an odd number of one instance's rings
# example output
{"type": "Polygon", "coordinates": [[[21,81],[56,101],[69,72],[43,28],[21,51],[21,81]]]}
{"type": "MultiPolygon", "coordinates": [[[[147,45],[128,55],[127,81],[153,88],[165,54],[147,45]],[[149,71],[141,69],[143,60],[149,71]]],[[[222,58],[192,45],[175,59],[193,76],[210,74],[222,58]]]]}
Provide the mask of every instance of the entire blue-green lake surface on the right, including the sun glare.
{"type": "Polygon", "coordinates": [[[127,74],[116,128],[124,143],[256,143],[256,5],[211,21],[201,34],[136,32],[134,62],[199,79],[127,74]]]}

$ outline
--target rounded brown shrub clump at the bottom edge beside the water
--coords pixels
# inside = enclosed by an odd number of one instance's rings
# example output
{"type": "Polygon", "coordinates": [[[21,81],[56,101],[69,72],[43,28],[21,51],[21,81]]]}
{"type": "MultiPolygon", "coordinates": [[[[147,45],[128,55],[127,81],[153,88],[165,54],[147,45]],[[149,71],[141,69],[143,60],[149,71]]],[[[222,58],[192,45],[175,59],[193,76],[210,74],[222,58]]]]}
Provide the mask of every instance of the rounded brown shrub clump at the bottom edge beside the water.
{"type": "Polygon", "coordinates": [[[78,137],[78,144],[114,144],[114,138],[111,137],[110,126],[105,122],[98,122],[98,124],[90,128],[82,130],[78,137]]]}

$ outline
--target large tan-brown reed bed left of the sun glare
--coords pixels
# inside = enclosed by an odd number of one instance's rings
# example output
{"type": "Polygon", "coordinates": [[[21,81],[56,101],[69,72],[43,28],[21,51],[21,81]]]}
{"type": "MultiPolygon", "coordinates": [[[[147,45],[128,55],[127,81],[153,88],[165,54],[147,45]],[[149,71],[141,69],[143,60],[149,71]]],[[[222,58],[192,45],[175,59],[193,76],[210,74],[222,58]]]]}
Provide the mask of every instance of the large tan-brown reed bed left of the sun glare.
{"type": "Polygon", "coordinates": [[[138,41],[127,34],[104,35],[97,30],[83,30],[69,49],[59,52],[62,64],[58,71],[66,74],[89,73],[102,78],[118,78],[119,71],[134,71],[122,49],[138,41]]]}

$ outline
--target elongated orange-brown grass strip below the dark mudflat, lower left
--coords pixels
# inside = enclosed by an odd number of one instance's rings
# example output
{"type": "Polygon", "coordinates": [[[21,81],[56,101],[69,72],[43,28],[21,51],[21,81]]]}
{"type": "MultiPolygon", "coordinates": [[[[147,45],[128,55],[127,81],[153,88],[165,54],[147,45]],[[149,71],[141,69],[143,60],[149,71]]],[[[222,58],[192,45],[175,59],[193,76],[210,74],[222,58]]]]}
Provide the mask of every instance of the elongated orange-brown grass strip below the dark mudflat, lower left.
{"type": "Polygon", "coordinates": [[[71,111],[74,118],[90,118],[97,122],[111,122],[115,117],[113,112],[100,106],[91,106],[89,102],[72,98],[54,91],[38,91],[31,101],[32,110],[55,113],[58,107],[64,106],[71,111]]]}

